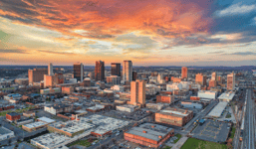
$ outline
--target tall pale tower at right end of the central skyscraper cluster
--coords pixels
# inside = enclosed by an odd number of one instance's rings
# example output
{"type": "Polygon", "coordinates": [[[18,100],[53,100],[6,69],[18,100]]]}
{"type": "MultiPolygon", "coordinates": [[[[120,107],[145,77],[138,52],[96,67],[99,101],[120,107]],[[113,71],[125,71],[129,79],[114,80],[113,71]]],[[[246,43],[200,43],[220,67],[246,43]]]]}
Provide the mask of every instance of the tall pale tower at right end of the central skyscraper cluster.
{"type": "Polygon", "coordinates": [[[132,63],[131,63],[131,61],[124,61],[124,63],[123,63],[123,80],[124,81],[132,80],[132,63]]]}

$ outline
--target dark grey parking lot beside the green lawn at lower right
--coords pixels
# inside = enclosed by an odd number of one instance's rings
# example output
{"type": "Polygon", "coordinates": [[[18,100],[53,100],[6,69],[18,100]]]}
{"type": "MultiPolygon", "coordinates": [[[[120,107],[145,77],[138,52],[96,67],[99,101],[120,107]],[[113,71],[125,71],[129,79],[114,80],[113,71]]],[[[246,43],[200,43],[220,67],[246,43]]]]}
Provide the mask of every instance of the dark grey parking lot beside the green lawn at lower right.
{"type": "Polygon", "coordinates": [[[205,120],[192,131],[191,135],[197,139],[220,143],[226,141],[229,130],[229,123],[205,120]]]}

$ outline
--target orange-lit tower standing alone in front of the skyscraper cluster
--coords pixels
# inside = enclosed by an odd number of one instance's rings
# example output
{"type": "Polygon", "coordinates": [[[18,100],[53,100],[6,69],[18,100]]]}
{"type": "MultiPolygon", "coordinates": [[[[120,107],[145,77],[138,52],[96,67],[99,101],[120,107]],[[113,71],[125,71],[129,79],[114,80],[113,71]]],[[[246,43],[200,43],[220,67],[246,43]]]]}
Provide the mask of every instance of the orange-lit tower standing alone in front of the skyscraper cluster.
{"type": "Polygon", "coordinates": [[[145,104],[145,82],[135,80],[130,82],[130,101],[129,104],[143,106],[145,104]]]}

